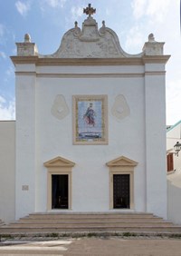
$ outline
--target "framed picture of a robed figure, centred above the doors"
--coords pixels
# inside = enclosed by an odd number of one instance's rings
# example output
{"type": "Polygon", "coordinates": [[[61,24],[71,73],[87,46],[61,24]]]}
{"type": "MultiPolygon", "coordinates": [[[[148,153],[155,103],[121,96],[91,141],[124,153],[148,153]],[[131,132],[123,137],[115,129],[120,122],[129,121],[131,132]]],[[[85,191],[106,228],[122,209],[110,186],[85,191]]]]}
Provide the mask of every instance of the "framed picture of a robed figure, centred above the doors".
{"type": "Polygon", "coordinates": [[[73,144],[108,144],[108,95],[72,96],[73,144]]]}

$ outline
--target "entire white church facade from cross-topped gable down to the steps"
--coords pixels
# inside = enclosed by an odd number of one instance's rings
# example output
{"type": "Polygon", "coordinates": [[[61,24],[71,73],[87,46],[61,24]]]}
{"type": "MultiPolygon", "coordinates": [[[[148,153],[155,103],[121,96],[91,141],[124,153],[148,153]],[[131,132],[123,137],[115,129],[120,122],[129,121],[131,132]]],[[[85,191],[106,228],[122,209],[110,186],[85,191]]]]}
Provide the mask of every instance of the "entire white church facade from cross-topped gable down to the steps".
{"type": "MultiPolygon", "coordinates": [[[[39,54],[25,34],[11,57],[14,220],[31,212],[152,212],[167,219],[169,55],[153,34],[140,54],[125,53],[105,22],[98,28],[91,6],[84,11],[82,27],[75,23],[54,54],[39,54]]],[[[8,208],[2,211],[1,219],[8,208]]]]}

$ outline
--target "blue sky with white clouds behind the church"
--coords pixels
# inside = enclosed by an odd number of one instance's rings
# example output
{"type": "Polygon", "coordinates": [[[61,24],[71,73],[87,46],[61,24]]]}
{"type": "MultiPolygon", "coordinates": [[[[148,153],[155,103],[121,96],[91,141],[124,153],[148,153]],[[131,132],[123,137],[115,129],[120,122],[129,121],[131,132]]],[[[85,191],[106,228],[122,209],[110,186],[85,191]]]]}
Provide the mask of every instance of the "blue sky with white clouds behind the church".
{"type": "Polygon", "coordinates": [[[99,27],[102,20],[119,36],[129,54],[138,54],[153,33],[158,42],[166,42],[167,124],[181,119],[181,35],[180,0],[7,0],[0,2],[0,120],[15,118],[14,65],[9,56],[16,54],[15,42],[31,35],[40,54],[52,54],[62,35],[86,18],[83,7],[96,8],[99,27]]]}

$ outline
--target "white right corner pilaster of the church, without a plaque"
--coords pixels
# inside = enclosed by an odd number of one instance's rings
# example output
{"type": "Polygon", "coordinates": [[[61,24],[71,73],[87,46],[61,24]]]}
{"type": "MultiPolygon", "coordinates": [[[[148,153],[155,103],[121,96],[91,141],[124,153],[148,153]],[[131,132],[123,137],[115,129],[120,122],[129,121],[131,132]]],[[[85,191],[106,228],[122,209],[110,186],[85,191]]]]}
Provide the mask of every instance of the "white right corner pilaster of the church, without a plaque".
{"type": "MultiPolygon", "coordinates": [[[[147,71],[152,68],[153,66],[147,64],[147,71]]],[[[165,95],[164,84],[164,75],[146,75],[145,77],[145,150],[147,211],[154,212],[158,216],[167,219],[166,101],[163,96],[165,95]]]]}

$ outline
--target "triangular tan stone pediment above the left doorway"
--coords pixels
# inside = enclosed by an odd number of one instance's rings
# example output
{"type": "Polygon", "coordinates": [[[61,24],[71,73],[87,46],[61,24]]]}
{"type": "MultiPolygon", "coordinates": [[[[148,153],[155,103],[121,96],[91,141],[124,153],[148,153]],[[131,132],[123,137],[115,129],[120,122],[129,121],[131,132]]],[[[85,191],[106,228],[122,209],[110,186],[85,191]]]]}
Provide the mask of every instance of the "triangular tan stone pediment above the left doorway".
{"type": "Polygon", "coordinates": [[[70,160],[62,158],[61,156],[57,156],[52,160],[44,162],[44,166],[46,167],[62,167],[62,166],[73,167],[74,165],[75,165],[75,162],[71,162],[70,160]]]}

